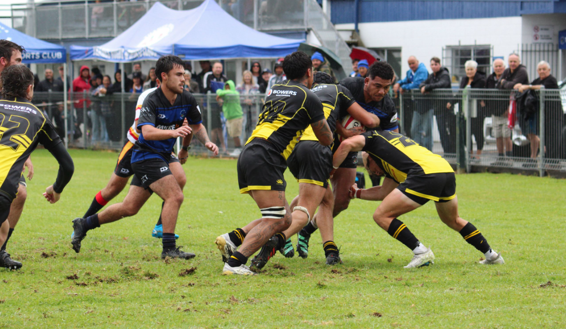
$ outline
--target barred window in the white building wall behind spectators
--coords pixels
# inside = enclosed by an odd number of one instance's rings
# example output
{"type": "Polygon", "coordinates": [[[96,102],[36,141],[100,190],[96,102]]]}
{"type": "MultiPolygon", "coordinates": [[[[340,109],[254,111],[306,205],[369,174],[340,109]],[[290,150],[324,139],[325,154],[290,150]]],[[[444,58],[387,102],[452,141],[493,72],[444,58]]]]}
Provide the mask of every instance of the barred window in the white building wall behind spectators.
{"type": "Polygon", "coordinates": [[[453,83],[466,76],[464,64],[470,59],[478,62],[478,71],[487,74],[491,71],[491,50],[490,45],[447,46],[443,51],[443,66],[450,70],[453,83]]]}

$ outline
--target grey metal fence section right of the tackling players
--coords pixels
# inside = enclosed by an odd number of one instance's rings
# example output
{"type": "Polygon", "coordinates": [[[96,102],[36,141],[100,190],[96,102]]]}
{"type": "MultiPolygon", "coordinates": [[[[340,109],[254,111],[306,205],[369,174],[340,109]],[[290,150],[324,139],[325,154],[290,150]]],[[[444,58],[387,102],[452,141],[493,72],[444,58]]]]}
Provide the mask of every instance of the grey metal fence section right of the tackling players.
{"type": "Polygon", "coordinates": [[[525,97],[514,90],[408,90],[395,102],[404,135],[466,172],[565,172],[566,90],[535,90],[530,105],[525,97]]]}

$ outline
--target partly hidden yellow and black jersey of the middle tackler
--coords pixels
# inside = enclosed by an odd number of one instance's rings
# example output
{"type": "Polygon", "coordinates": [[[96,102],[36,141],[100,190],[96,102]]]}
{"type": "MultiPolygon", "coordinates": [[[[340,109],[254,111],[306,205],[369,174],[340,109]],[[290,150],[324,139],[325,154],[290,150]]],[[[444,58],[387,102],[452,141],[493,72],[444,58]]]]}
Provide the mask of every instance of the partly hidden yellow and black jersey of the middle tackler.
{"type": "MultiPolygon", "coordinates": [[[[311,88],[312,92],[320,99],[324,109],[324,117],[332,133],[336,132],[336,120],[344,118],[348,114],[348,107],[354,102],[350,90],[342,85],[316,84],[311,88]]],[[[318,141],[312,127],[309,125],[301,137],[302,141],[318,141]]]]}

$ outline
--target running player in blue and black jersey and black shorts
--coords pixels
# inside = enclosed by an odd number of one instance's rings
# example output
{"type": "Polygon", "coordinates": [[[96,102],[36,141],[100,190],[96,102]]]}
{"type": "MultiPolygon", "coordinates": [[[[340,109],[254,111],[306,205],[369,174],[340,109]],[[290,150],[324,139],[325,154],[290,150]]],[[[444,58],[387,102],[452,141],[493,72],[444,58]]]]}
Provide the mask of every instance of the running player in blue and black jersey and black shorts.
{"type": "MultiPolygon", "coordinates": [[[[137,128],[141,130],[141,135],[132,153],[135,176],[130,190],[122,203],[114,204],[100,214],[73,220],[74,237],[71,244],[75,252],[80,251],[81,241],[88,230],[135,215],[155,192],[164,200],[161,210],[161,258],[195,257],[195,254],[182,252],[180,247],[175,248],[175,225],[184,197],[169,167],[171,151],[177,137],[183,137],[183,146],[188,146],[190,138],[187,135],[191,132],[215,155],[218,154],[218,148],[208,139],[196,99],[183,89],[184,65],[181,58],[173,55],[157,60],[155,73],[162,82],[160,88],[145,98],[140,110],[137,128]],[[183,125],[185,119],[188,120],[188,126],[183,125]]],[[[179,155],[184,159],[187,152],[181,150],[179,155]]]]}

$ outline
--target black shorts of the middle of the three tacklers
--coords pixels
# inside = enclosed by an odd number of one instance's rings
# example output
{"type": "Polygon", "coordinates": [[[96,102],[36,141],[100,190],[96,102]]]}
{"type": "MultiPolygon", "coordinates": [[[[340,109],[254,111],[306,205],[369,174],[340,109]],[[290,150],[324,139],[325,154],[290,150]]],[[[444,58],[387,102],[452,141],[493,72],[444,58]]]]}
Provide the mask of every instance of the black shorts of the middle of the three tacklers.
{"type": "Polygon", "coordinates": [[[299,183],[327,188],[332,171],[332,150],[318,141],[300,141],[287,158],[287,165],[299,183]]]}

